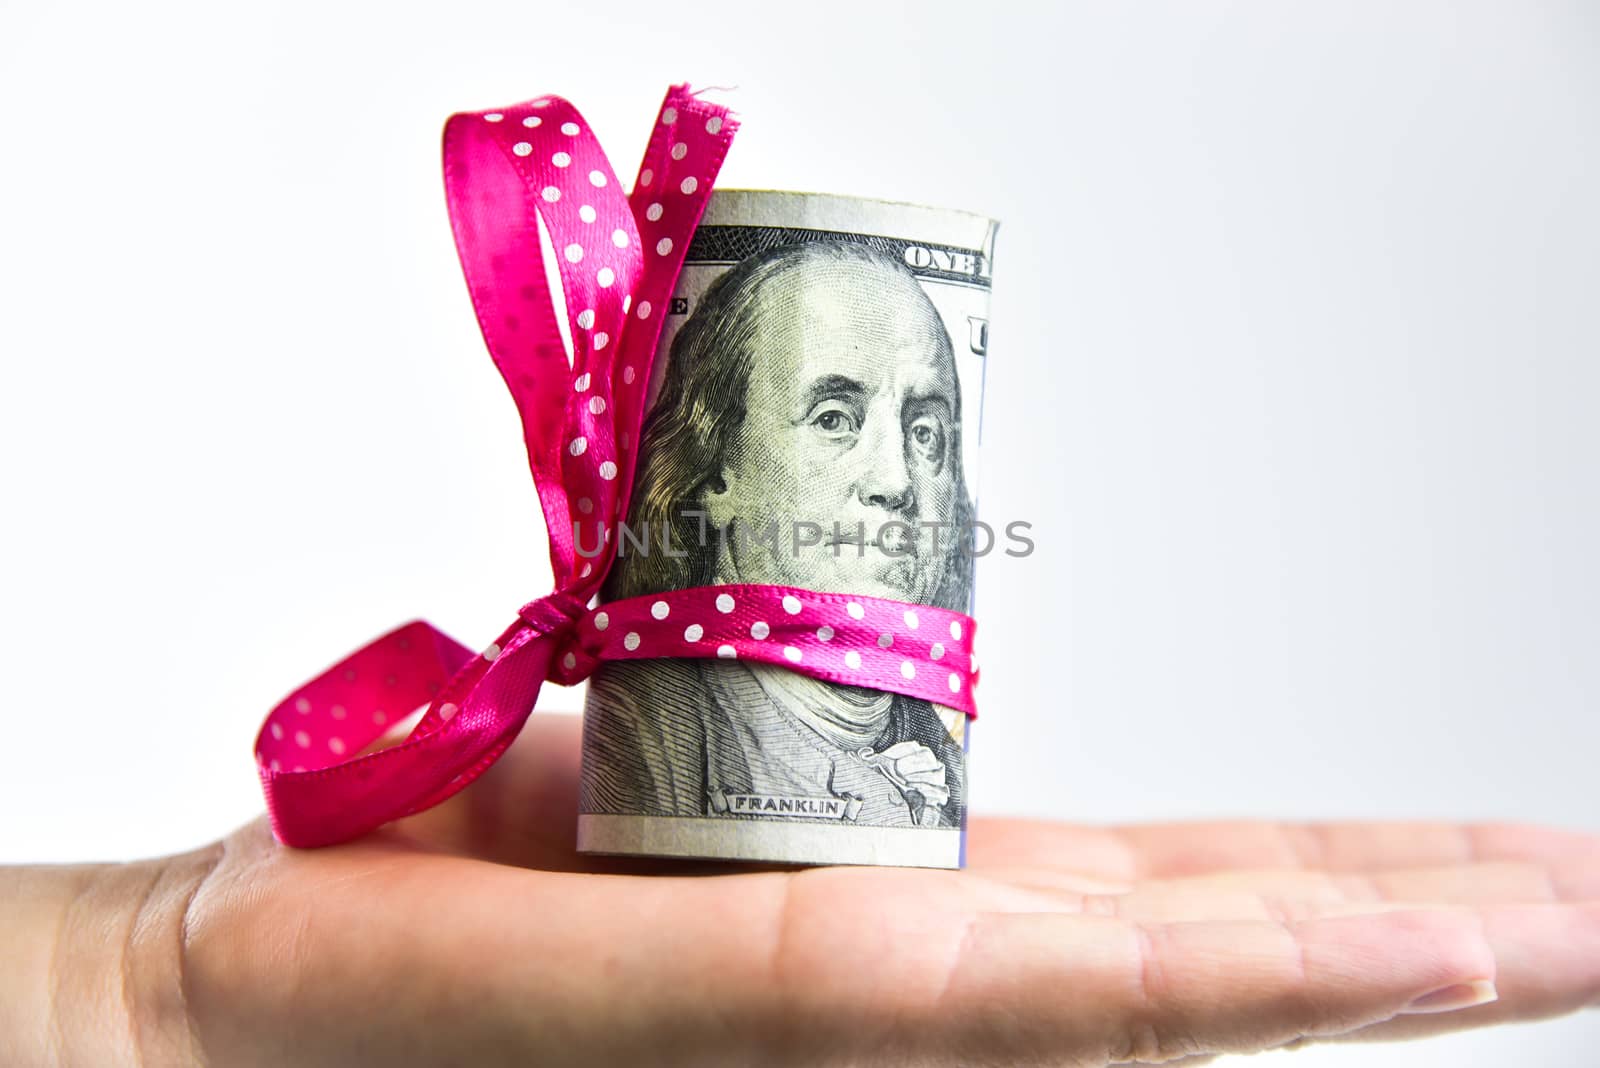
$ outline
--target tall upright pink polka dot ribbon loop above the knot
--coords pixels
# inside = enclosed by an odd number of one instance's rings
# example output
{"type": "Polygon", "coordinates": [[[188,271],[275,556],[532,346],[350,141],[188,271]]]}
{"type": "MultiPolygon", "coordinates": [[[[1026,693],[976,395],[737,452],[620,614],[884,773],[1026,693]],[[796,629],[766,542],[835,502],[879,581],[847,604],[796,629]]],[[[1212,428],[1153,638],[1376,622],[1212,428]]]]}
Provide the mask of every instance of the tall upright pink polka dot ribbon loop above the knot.
{"type": "Polygon", "coordinates": [[[587,600],[598,576],[594,568],[574,574],[566,532],[584,507],[579,500],[602,515],[616,504],[608,382],[626,325],[622,305],[643,272],[638,230],[598,141],[562,98],[453,115],[443,155],[461,269],[483,342],[522,414],[555,585],[576,580],[587,600]],[[541,227],[554,249],[562,309],[547,285],[541,227]],[[557,313],[566,318],[571,357],[557,313]]]}

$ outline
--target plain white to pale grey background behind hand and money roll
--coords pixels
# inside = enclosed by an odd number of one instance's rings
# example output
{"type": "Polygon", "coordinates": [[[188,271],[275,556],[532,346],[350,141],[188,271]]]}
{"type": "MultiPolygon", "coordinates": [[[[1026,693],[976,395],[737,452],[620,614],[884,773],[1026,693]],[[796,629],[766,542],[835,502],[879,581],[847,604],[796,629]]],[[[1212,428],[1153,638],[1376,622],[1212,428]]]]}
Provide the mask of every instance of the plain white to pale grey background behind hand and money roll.
{"type": "Polygon", "coordinates": [[[1005,221],[979,811],[1600,825],[1597,59],[1582,3],[0,2],[0,860],[195,846],[291,686],[546,592],[438,131],[558,91],[632,173],[670,80],[738,86],[725,185],[1005,221]]]}

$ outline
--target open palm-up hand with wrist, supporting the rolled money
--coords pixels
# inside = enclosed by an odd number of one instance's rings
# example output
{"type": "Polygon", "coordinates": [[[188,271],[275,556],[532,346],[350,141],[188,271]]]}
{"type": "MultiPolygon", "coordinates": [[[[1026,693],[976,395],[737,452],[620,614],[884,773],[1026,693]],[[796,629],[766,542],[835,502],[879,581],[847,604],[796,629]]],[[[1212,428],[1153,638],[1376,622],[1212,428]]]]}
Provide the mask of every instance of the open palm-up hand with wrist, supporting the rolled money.
{"type": "Polygon", "coordinates": [[[0,870],[8,924],[56,946],[40,974],[0,953],[0,1025],[48,974],[46,1047],[122,1042],[86,1063],[1187,1065],[1600,994],[1590,835],[973,820],[966,871],[589,859],[578,731],[534,716],[458,798],[349,846],[258,820],[149,865],[0,870]],[[67,918],[30,913],[61,878],[67,918]]]}

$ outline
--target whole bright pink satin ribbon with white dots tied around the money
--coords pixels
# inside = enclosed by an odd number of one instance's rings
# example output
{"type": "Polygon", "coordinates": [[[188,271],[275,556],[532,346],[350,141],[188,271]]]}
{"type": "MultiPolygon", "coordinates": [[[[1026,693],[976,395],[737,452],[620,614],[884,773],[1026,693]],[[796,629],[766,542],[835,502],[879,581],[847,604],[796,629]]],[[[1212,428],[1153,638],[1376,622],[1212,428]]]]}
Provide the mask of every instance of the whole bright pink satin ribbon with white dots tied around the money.
{"type": "Polygon", "coordinates": [[[256,764],[285,844],[347,841],[443,801],[506,751],[546,681],[582,681],[605,660],[760,660],[976,715],[973,620],[960,612],[774,585],[590,608],[616,548],[605,539],[598,555],[581,553],[573,521],[610,526],[627,515],[661,321],[736,126],[726,109],[674,86],[624,197],[594,133],[562,98],[445,125],[456,248],[522,416],[555,592],[525,604],[480,652],[411,622],[278,703],[256,737],[256,764]],[[547,285],[541,224],[563,304],[547,285]],[[378,748],[416,708],[424,711],[411,732],[378,748]]]}

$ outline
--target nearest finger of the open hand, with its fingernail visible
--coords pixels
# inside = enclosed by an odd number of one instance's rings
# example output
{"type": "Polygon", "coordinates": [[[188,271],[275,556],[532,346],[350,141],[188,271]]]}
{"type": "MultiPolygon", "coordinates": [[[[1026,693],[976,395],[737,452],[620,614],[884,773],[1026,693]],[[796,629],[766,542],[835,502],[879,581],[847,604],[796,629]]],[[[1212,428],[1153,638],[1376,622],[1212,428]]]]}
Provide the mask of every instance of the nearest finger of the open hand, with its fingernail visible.
{"type": "MultiPolygon", "coordinates": [[[[1026,1036],[995,1063],[1253,1052],[1493,996],[1475,918],[1443,910],[1288,924],[997,916],[970,942],[981,948],[952,1002],[1003,1006],[1026,1036]]],[[[978,1030],[974,1062],[995,1038],[978,1030]]]]}

